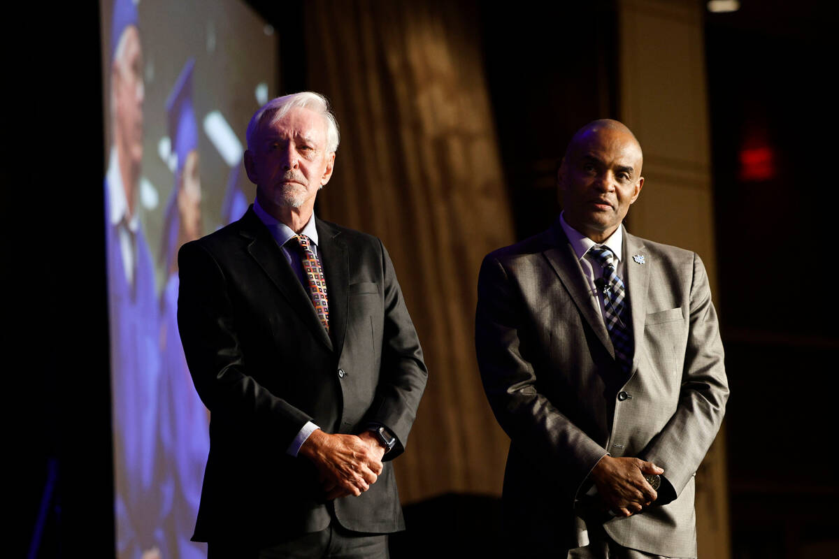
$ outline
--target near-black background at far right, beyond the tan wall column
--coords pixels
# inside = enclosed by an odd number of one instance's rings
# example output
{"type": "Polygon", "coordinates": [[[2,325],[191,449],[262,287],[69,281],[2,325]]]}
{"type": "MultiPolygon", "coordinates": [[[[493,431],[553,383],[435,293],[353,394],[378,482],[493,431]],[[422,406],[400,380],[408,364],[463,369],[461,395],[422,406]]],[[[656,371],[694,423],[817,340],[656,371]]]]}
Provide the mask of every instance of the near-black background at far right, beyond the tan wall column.
{"type": "Polygon", "coordinates": [[[836,556],[839,325],[831,312],[836,13],[743,3],[709,17],[706,54],[727,412],[732,556],[836,556]],[[724,17],[728,15],[729,17],[724,17]],[[772,176],[742,177],[765,146],[772,176]],[[834,541],[833,547],[825,543],[834,541]]]}

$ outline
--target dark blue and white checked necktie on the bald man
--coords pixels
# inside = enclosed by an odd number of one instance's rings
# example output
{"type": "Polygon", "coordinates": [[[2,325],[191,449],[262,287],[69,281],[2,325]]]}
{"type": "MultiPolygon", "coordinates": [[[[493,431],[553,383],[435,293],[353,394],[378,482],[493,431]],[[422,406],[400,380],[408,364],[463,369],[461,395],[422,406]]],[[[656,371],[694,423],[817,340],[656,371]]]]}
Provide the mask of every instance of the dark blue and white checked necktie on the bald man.
{"type": "Polygon", "coordinates": [[[618,363],[627,374],[632,369],[633,339],[626,305],[626,288],[615,270],[614,255],[606,246],[592,246],[589,254],[603,267],[603,310],[609,338],[618,363]]]}

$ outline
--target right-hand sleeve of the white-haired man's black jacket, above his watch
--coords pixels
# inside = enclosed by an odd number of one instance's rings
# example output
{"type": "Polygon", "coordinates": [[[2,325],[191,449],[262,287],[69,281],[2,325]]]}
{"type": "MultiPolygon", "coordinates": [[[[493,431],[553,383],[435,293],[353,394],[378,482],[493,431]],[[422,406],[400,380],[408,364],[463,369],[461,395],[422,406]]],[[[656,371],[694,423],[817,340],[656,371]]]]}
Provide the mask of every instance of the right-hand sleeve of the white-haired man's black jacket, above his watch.
{"type": "Polygon", "coordinates": [[[396,437],[393,449],[383,458],[392,460],[404,452],[420,397],[425,391],[428,370],[425,369],[420,340],[405,307],[393,263],[381,241],[379,246],[384,302],[382,365],[376,396],[366,418],[369,423],[387,427],[396,437]]]}

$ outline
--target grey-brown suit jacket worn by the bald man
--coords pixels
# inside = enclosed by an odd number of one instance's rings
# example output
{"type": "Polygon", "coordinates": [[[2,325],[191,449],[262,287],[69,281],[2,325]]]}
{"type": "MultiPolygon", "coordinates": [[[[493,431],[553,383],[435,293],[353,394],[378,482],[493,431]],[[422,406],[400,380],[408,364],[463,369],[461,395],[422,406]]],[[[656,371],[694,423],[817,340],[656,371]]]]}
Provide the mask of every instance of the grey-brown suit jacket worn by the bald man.
{"type": "Polygon", "coordinates": [[[625,230],[623,238],[635,342],[629,377],[559,221],[483,261],[477,356],[511,438],[505,517],[534,550],[575,547],[585,524],[575,499],[591,468],[606,453],[645,458],[664,468],[674,500],[603,528],[623,546],[696,556],[694,474],[728,396],[717,314],[699,256],[625,230]]]}

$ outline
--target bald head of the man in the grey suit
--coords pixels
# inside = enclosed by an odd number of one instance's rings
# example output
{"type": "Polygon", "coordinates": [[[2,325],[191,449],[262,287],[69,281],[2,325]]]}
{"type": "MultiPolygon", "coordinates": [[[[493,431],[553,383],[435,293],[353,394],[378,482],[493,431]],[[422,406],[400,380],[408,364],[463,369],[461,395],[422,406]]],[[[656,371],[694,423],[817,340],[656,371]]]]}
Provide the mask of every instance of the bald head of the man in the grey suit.
{"type": "Polygon", "coordinates": [[[644,186],[643,158],[621,122],[604,118],[580,128],[557,173],[568,225],[598,243],[611,236],[644,186]]]}

